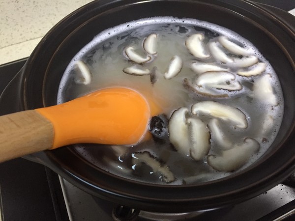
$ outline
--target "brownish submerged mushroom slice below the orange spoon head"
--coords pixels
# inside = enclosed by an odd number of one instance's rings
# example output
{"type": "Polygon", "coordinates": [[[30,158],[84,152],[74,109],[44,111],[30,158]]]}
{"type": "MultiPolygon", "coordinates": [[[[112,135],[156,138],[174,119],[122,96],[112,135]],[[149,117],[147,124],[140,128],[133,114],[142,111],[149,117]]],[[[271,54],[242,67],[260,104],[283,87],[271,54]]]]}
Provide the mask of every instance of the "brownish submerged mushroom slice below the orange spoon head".
{"type": "Polygon", "coordinates": [[[175,181],[174,174],[170,171],[170,168],[167,165],[161,165],[161,163],[147,151],[132,154],[132,164],[146,164],[150,166],[154,173],[160,173],[162,175],[162,179],[166,183],[175,181]]]}

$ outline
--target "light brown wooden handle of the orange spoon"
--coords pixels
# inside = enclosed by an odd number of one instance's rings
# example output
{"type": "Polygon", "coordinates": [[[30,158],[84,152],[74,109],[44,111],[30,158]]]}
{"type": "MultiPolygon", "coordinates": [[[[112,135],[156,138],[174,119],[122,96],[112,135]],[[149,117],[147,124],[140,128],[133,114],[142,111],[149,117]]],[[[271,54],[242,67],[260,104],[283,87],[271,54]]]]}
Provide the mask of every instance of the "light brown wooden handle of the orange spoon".
{"type": "Polygon", "coordinates": [[[0,162],[50,149],[52,123],[37,111],[0,116],[0,162]]]}

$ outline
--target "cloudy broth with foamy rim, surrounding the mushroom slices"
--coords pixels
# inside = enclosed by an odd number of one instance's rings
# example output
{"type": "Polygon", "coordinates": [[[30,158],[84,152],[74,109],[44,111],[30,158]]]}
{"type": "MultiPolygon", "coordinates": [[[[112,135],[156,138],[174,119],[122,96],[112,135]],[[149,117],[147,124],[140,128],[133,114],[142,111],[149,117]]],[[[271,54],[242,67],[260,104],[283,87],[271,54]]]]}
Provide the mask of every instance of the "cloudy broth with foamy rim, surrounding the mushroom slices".
{"type": "MultiPolygon", "coordinates": [[[[213,60],[209,61],[213,62],[213,60]]],[[[135,89],[143,95],[148,95],[155,100],[157,105],[162,107],[163,113],[168,117],[180,107],[190,109],[191,105],[198,101],[213,100],[229,105],[234,103],[236,108],[246,114],[249,126],[245,130],[233,130],[229,125],[224,124],[222,125],[223,132],[236,142],[240,142],[241,138],[250,137],[259,141],[261,145],[260,151],[253,155],[248,163],[240,169],[249,166],[266,152],[279,130],[283,117],[284,101],[279,80],[271,65],[258,49],[248,40],[227,28],[193,19],[148,18],[122,24],[101,32],[75,55],[68,65],[60,82],[58,103],[66,102],[100,88],[112,86],[125,86],[135,89]],[[165,80],[160,76],[154,84],[150,83],[150,76],[132,76],[122,72],[123,68],[130,66],[130,61],[123,55],[124,48],[132,45],[136,47],[137,52],[143,53],[142,41],[151,33],[158,35],[158,53],[152,62],[144,64],[146,68],[157,67],[160,73],[164,73],[173,55],[181,56],[183,60],[182,70],[175,78],[165,80]],[[256,55],[261,62],[266,63],[265,73],[272,76],[271,85],[279,105],[275,107],[265,105],[249,96],[252,84],[257,77],[236,76],[236,80],[241,82],[243,89],[228,92],[229,98],[207,98],[188,92],[183,87],[183,79],[194,78],[195,73],[190,69],[190,64],[196,58],[188,52],[184,42],[187,36],[194,33],[205,34],[206,42],[213,41],[220,35],[227,36],[233,39],[236,44],[247,48],[249,53],[256,55]],[[74,81],[75,64],[78,60],[84,61],[89,67],[92,74],[92,81],[89,85],[76,84],[74,81]],[[267,114],[273,117],[274,126],[270,132],[262,135],[261,124],[267,114]],[[264,142],[265,140],[267,141],[264,142]]],[[[207,123],[206,118],[204,121],[207,123]]],[[[209,154],[220,152],[215,145],[212,141],[209,154]]],[[[98,144],[77,144],[75,149],[89,162],[110,173],[149,183],[166,184],[162,182],[162,175],[153,172],[149,166],[136,168],[132,165],[132,155],[136,152],[148,151],[164,165],[167,165],[176,177],[176,180],[171,183],[172,185],[204,182],[230,174],[212,169],[207,165],[206,159],[194,161],[190,157],[181,156],[167,140],[155,142],[151,139],[132,147],[114,147],[115,151],[109,146],[98,144]]]]}

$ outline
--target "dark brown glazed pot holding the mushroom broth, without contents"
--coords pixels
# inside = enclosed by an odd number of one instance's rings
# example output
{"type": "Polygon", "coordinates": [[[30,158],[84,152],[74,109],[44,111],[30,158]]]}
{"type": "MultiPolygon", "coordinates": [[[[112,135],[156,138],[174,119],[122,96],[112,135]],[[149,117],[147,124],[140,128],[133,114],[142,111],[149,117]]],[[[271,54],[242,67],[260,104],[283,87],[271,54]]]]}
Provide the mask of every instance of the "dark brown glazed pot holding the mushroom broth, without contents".
{"type": "Polygon", "coordinates": [[[248,0],[93,1],[60,21],[41,40],[1,95],[0,102],[10,103],[1,114],[55,105],[66,66],[95,35],[154,16],[194,18],[232,29],[266,57],[279,77],[285,99],[283,122],[269,150],[253,165],[231,176],[181,186],[153,185],[112,175],[87,162],[71,147],[26,158],[49,166],[94,196],[154,212],[220,208],[264,193],[286,179],[295,171],[295,20],[287,22],[248,0]]]}

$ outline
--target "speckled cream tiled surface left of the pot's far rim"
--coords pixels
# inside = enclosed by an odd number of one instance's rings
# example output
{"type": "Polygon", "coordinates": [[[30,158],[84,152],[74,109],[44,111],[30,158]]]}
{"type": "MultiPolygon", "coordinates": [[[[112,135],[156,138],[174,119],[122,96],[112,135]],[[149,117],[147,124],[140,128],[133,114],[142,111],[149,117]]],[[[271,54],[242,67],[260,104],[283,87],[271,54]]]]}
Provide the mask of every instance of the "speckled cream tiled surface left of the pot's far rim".
{"type": "Polygon", "coordinates": [[[0,64],[29,56],[63,17],[91,0],[0,0],[0,64]]]}

